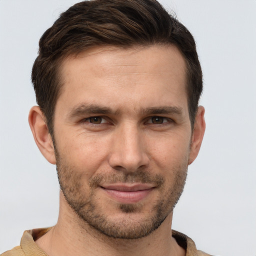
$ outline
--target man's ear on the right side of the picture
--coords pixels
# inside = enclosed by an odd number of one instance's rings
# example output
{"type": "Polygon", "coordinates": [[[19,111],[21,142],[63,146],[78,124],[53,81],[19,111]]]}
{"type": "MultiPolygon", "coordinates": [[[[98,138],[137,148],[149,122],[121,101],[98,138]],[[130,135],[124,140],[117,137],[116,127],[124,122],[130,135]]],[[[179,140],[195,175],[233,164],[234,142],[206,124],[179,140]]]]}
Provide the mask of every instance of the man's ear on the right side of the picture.
{"type": "Polygon", "coordinates": [[[194,161],[194,159],[196,158],[199,152],[204,131],[205,131],[204,107],[198,106],[196,117],[194,120],[194,129],[193,129],[193,134],[191,138],[188,164],[191,164],[194,161]]]}

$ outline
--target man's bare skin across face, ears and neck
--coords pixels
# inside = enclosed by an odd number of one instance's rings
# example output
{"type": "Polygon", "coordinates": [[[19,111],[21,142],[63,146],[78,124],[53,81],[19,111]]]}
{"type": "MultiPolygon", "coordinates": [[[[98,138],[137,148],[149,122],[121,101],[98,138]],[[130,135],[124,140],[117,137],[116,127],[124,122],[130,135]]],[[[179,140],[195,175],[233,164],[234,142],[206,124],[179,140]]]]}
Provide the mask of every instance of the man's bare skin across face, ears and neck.
{"type": "Polygon", "coordinates": [[[61,187],[57,224],[36,243],[50,256],[184,255],[172,210],[205,123],[199,106],[191,129],[179,50],[94,47],[66,58],[61,76],[55,150],[43,113],[29,113],[61,187]]]}

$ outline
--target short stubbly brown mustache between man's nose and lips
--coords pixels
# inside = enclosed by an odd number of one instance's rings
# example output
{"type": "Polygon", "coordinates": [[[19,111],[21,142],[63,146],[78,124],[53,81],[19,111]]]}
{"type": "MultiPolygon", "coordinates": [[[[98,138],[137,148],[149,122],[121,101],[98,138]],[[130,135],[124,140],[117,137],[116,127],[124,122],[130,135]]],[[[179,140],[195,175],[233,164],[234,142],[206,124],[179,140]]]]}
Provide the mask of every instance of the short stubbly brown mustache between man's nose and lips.
{"type": "Polygon", "coordinates": [[[100,173],[89,179],[89,186],[96,187],[102,183],[150,183],[161,186],[164,178],[160,174],[152,174],[148,171],[136,170],[134,172],[100,173]]]}

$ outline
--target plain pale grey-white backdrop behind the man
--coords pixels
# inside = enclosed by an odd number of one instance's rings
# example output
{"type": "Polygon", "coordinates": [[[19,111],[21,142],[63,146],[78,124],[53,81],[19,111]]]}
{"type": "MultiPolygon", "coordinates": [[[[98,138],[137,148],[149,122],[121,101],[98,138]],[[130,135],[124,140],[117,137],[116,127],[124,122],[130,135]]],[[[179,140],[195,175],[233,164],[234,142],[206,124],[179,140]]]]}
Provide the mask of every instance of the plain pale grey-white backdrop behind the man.
{"type": "MultiPolygon", "coordinates": [[[[0,0],[0,252],[25,229],[54,225],[55,166],[27,115],[38,40],[75,0],[0,0]]],[[[194,35],[206,132],[174,209],[173,229],[213,255],[256,255],[256,1],[160,0],[194,35]]]]}

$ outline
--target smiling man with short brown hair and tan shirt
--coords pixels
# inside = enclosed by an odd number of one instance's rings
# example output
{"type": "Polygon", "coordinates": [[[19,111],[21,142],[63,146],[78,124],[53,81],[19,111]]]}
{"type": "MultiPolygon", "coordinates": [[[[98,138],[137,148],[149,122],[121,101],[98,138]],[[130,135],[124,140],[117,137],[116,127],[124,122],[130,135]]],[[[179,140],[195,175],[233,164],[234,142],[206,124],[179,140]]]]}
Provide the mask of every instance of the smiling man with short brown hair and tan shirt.
{"type": "Polygon", "coordinates": [[[6,255],[208,255],[171,230],[205,123],[189,31],[155,0],[83,1],[39,41],[29,124],[60,184],[55,226],[6,255]]]}

